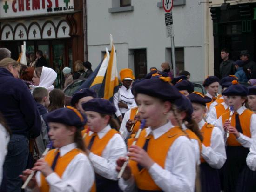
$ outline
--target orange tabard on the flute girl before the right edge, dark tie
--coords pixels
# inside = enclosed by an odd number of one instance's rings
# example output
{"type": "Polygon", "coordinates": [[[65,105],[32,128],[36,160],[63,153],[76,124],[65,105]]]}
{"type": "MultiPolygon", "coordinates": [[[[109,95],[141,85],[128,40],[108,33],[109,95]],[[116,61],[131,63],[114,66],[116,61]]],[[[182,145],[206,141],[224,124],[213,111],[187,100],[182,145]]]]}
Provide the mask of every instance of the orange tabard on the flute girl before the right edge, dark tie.
{"type": "MultiPolygon", "coordinates": [[[[243,111],[243,113],[241,115],[239,115],[239,121],[240,121],[240,125],[242,128],[242,133],[243,135],[247,136],[247,137],[251,137],[251,132],[250,132],[250,119],[251,119],[251,115],[253,114],[252,111],[250,111],[249,109],[245,109],[243,111]]],[[[236,112],[232,115],[231,118],[231,126],[236,127],[236,112]]],[[[230,113],[226,112],[222,115],[222,125],[224,125],[225,120],[229,120],[229,116],[230,113]]],[[[234,134],[230,133],[229,138],[227,140],[227,144],[228,146],[241,146],[241,144],[236,140],[236,137],[234,134]]]]}

